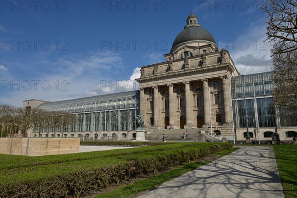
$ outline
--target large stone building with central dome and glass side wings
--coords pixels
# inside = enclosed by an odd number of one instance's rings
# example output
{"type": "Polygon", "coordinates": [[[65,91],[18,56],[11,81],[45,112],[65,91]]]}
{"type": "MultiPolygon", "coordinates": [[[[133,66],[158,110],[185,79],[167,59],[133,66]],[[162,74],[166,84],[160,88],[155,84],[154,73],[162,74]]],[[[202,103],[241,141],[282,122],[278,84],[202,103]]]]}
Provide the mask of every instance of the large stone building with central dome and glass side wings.
{"type": "Polygon", "coordinates": [[[75,114],[76,123],[64,137],[83,140],[131,140],[139,113],[150,132],[195,128],[225,140],[245,140],[247,132],[252,140],[296,137],[297,113],[279,115],[271,72],[241,76],[228,50],[218,49],[195,14],[186,22],[164,62],[141,67],[139,91],[56,102],[32,99],[24,106],[75,114]]]}

